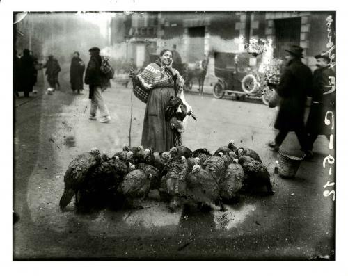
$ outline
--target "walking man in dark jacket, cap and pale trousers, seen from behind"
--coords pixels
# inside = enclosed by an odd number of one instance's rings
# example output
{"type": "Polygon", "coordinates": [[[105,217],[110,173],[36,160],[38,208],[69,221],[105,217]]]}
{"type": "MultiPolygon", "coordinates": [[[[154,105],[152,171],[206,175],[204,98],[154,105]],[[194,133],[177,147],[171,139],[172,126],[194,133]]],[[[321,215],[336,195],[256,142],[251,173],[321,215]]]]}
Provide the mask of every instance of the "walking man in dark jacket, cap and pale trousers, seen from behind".
{"type": "Polygon", "coordinates": [[[89,85],[89,98],[90,98],[90,120],[97,120],[97,109],[100,111],[100,122],[110,122],[111,117],[109,115],[108,108],[104,103],[102,92],[109,87],[109,79],[106,79],[102,74],[100,67],[102,66],[102,56],[100,56],[100,49],[93,47],[89,49],[90,60],[87,65],[85,74],[85,83],[89,85]]]}

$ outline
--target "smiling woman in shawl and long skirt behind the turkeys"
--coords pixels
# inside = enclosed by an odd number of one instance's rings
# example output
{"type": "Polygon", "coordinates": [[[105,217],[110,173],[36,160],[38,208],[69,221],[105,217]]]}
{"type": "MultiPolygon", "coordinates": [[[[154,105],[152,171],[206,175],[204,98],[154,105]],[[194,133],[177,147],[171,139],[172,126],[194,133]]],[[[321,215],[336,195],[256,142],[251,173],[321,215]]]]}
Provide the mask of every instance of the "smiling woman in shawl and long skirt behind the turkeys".
{"type": "Polygon", "coordinates": [[[181,133],[171,129],[171,124],[165,120],[165,110],[171,96],[180,97],[191,110],[184,99],[184,79],[172,67],[172,52],[164,49],[155,63],[150,63],[141,74],[135,75],[129,70],[132,78],[134,93],[144,95],[146,102],[143,121],[141,145],[151,148],[154,152],[165,152],[181,145],[181,133]]]}

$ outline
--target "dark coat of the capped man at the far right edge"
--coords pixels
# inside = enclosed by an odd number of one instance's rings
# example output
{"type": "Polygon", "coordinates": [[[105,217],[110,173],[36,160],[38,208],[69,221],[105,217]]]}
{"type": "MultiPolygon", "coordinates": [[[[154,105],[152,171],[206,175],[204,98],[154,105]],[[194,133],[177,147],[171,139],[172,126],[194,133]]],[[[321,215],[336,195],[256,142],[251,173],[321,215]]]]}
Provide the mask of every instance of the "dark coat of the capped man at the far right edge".
{"type": "MultiPolygon", "coordinates": [[[[335,72],[329,67],[317,69],[313,73],[312,103],[306,124],[308,133],[331,134],[331,125],[326,126],[324,123],[326,112],[335,111],[335,91],[324,95],[332,87],[330,76],[335,76],[335,72]]],[[[328,118],[331,120],[331,115],[328,118]]]]}

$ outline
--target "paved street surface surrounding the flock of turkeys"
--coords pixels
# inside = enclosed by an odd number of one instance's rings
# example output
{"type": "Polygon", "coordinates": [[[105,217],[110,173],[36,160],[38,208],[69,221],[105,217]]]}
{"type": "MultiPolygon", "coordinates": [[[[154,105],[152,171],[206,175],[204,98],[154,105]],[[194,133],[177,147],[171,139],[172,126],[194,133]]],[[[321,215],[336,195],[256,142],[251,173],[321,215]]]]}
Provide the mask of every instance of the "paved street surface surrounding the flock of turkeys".
{"type": "MultiPolygon", "coordinates": [[[[169,213],[157,193],[145,210],[81,214],[70,204],[62,212],[63,175],[74,156],[91,147],[113,154],[129,143],[131,94],[115,84],[106,91],[113,120],[101,124],[88,121],[87,94],[72,95],[68,86],[54,95],[42,89],[15,108],[15,259],[335,258],[334,204],[323,196],[329,175],[322,168],[329,153],[325,138],[317,140],[315,159],[301,164],[296,179],[280,179],[274,174],[277,156],[266,146],[275,133],[273,109],[188,94],[198,122],[189,120],[184,145],[214,151],[235,140],[255,149],[271,172],[274,196],[242,195],[225,213],[169,213]]],[[[145,104],[134,98],[132,145],[140,143],[144,111],[145,104]]],[[[290,135],[285,147],[299,144],[290,135]]]]}

